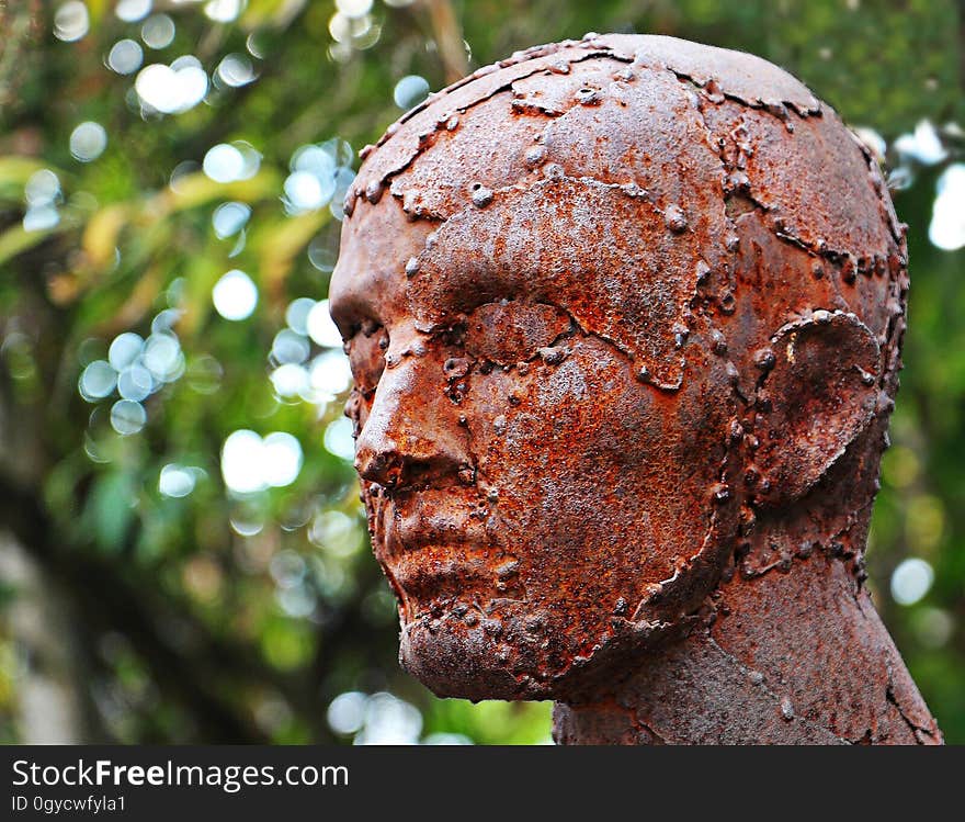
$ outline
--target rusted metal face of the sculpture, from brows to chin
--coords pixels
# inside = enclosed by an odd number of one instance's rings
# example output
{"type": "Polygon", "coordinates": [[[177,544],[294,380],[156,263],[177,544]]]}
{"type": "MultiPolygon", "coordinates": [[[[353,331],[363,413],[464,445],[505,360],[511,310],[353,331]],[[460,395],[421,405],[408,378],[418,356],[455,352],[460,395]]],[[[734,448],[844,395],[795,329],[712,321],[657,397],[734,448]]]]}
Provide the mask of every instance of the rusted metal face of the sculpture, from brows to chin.
{"type": "MultiPolygon", "coordinates": [[[[419,250],[379,215],[360,222],[397,239],[386,259],[419,250]]],[[[459,257],[442,234],[433,251],[459,257]]],[[[404,662],[444,694],[553,695],[575,657],[648,617],[655,586],[700,554],[726,381],[643,383],[563,307],[574,290],[605,288],[592,267],[540,288],[508,281],[493,258],[430,296],[401,272],[373,273],[364,244],[342,259],[333,312],[356,329],[356,464],[400,599],[404,662]],[[420,330],[428,315],[433,329],[420,330]]]]}

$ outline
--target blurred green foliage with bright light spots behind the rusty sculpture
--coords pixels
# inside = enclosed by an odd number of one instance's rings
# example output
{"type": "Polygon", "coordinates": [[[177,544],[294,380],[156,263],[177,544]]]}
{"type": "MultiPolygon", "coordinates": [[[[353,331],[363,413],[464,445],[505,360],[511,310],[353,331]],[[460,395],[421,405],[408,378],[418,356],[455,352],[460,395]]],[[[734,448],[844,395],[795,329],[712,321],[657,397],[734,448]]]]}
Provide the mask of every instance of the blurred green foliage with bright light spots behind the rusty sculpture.
{"type": "MultiPolygon", "coordinates": [[[[320,386],[280,382],[286,324],[310,347],[288,375],[304,381],[302,360],[326,357],[325,339],[309,341],[288,309],[326,296],[339,228],[337,204],[287,188],[293,158],[314,145],[334,158],[333,173],[357,166],[339,140],[354,151],[375,142],[400,114],[402,77],[438,89],[534,43],[656,32],[784,65],[888,145],[926,119],[963,122],[953,0],[340,0],[339,9],[0,4],[0,526],[12,534],[0,541],[0,740],[31,737],[23,696],[37,677],[65,687],[70,734],[88,741],[548,737],[546,703],[438,700],[400,673],[393,600],[367,550],[338,421],[344,395],[326,393],[331,369],[318,372],[320,386]],[[114,50],[127,40],[136,49],[114,50]],[[185,56],[194,59],[174,63],[185,56]],[[150,86],[150,64],[174,67],[150,86]],[[205,164],[219,145],[245,166],[223,182],[205,164]],[[247,217],[227,232],[216,215],[229,202],[247,217]],[[258,290],[238,322],[212,300],[234,269],[258,290]],[[132,406],[112,423],[116,392],[84,398],[79,381],[118,335],[149,338],[152,324],[177,357],[132,403],[143,426],[132,406]],[[284,442],[300,460],[296,475],[232,492],[222,449],[241,429],[293,435],[300,454],[284,442]],[[24,632],[25,619],[53,635],[24,632]],[[395,697],[342,699],[327,717],[339,695],[383,691],[395,697]]],[[[961,155],[961,132],[941,136],[938,160],[889,154],[910,183],[895,201],[910,226],[912,295],[869,561],[913,676],[946,739],[963,742],[963,252],[928,239],[935,182],[961,155]],[[929,563],[934,584],[899,605],[888,581],[911,556],[929,563]]],[[[122,393],[137,396],[137,386],[122,393]]]]}

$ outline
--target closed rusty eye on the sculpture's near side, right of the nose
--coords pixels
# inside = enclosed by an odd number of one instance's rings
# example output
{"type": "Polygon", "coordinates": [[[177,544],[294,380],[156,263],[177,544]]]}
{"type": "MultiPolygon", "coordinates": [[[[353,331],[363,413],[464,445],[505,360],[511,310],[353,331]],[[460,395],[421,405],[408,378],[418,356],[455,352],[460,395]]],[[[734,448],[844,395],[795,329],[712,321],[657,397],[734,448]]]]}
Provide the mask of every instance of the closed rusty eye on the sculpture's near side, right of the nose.
{"type": "Polygon", "coordinates": [[[553,305],[501,300],[468,315],[465,350],[478,360],[510,365],[534,358],[570,333],[569,315],[553,305]]]}

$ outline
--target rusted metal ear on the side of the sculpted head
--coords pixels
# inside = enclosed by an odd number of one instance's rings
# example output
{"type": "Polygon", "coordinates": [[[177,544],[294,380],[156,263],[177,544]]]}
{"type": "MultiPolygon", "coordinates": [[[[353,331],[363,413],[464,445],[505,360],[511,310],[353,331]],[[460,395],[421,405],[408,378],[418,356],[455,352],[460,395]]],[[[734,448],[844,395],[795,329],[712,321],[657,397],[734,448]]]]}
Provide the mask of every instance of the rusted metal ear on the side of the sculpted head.
{"type": "Polygon", "coordinates": [[[881,357],[867,326],[843,312],[816,311],[771,344],[753,462],[758,502],[776,506],[804,496],[874,418],[881,357]]]}

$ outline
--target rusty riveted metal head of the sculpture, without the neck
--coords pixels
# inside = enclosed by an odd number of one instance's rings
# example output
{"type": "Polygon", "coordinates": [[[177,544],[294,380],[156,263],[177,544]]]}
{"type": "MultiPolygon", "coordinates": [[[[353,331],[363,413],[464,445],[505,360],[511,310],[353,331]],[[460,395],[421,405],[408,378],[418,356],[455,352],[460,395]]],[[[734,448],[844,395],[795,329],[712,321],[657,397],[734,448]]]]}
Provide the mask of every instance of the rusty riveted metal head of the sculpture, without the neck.
{"type": "Polygon", "coordinates": [[[590,35],[477,71],[363,155],[332,315],[400,657],[430,688],[598,687],[735,571],[790,565],[775,530],[860,564],[904,239],[806,88],[590,35]]]}

